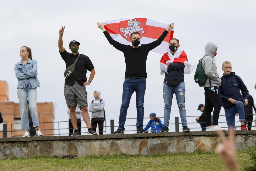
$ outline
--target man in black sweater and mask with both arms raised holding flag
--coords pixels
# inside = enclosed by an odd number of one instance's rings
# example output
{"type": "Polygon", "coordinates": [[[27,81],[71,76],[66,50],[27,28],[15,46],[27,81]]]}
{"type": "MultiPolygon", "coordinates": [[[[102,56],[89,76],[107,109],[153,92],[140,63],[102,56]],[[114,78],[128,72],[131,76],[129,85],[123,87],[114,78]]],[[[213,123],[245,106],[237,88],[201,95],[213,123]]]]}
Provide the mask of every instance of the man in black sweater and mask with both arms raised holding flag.
{"type": "MultiPolygon", "coordinates": [[[[138,22],[137,22],[138,23],[138,22]]],[[[102,29],[103,34],[106,36],[107,40],[111,45],[113,45],[117,50],[123,52],[125,56],[126,70],[125,70],[125,81],[123,83],[123,98],[122,105],[120,109],[118,129],[114,134],[123,134],[124,125],[126,121],[127,109],[130,104],[131,95],[136,92],[136,107],[137,107],[137,133],[148,133],[147,130],[143,129],[143,117],[144,117],[144,95],[146,90],[146,60],[149,51],[153,50],[155,47],[159,46],[165,39],[168,31],[173,28],[174,24],[169,24],[163,31],[162,35],[155,41],[142,44],[139,46],[141,41],[141,36],[139,32],[133,32],[130,36],[130,45],[121,44],[118,41],[113,40],[108,31],[102,23],[97,23],[98,27],[102,29]]],[[[138,24],[139,25],[139,24],[138,24]]],[[[138,27],[139,29],[139,27],[138,27]]],[[[121,28],[123,32],[127,29],[121,28]]],[[[144,30],[143,30],[144,31],[144,30]]],[[[142,34],[142,33],[141,33],[142,34]]]]}

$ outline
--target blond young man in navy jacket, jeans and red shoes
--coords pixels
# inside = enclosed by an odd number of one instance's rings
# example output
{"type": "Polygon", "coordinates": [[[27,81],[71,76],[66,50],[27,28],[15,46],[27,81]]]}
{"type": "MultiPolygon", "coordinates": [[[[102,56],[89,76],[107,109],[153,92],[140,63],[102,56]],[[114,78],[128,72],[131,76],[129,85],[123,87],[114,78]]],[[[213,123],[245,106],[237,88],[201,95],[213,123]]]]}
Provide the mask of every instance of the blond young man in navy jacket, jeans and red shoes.
{"type": "Polygon", "coordinates": [[[221,96],[222,106],[225,109],[227,126],[235,128],[235,114],[239,113],[241,130],[247,130],[245,127],[244,105],[246,106],[248,104],[248,90],[242,79],[235,75],[235,72],[231,72],[232,66],[229,61],[223,62],[221,69],[224,73],[221,78],[222,82],[219,87],[219,94],[221,96]],[[240,89],[243,96],[240,93],[240,89]]]}

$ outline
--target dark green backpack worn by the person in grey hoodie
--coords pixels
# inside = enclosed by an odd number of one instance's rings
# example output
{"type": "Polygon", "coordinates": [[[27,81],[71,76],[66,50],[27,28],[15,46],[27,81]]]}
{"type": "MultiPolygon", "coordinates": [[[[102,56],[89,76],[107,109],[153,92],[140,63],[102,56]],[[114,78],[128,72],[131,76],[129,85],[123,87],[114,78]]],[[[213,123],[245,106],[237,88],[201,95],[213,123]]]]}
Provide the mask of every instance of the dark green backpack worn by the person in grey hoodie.
{"type": "MultiPolygon", "coordinates": [[[[208,55],[205,55],[208,56],[208,55]]],[[[203,56],[203,57],[205,57],[203,56]]],[[[203,87],[205,85],[207,80],[207,75],[205,75],[205,70],[203,70],[202,66],[203,58],[199,60],[199,63],[197,64],[197,69],[195,70],[194,80],[196,83],[199,84],[200,87],[203,87]]]]}

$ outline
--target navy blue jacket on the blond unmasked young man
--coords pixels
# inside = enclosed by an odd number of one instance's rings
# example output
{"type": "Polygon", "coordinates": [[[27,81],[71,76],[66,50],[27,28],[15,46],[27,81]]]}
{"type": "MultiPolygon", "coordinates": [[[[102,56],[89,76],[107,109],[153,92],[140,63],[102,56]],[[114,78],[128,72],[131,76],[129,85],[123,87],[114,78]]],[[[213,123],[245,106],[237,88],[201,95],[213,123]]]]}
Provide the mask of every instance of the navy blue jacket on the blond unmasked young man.
{"type": "Polygon", "coordinates": [[[240,84],[235,79],[235,72],[230,72],[228,75],[223,73],[221,86],[219,87],[219,95],[221,96],[222,106],[224,109],[229,109],[234,106],[234,104],[228,101],[229,98],[237,101],[243,101],[244,99],[248,99],[250,96],[242,79],[239,76],[237,77],[240,80],[240,84]],[[240,93],[240,89],[243,96],[240,93]]]}

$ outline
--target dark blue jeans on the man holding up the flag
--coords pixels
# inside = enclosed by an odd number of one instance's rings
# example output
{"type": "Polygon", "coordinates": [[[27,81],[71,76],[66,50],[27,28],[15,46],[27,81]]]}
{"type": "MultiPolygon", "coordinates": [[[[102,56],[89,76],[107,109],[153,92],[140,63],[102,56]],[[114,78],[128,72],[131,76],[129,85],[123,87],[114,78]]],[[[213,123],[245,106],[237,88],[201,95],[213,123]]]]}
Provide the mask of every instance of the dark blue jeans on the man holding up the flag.
{"type": "Polygon", "coordinates": [[[126,121],[127,109],[130,104],[131,95],[136,92],[136,107],[137,107],[137,123],[136,128],[143,128],[144,118],[144,95],[146,90],[145,78],[125,78],[123,82],[123,99],[120,109],[118,127],[125,130],[124,125],[126,121]]]}

